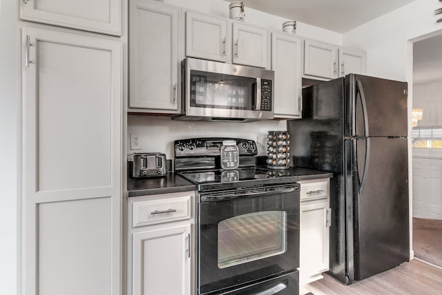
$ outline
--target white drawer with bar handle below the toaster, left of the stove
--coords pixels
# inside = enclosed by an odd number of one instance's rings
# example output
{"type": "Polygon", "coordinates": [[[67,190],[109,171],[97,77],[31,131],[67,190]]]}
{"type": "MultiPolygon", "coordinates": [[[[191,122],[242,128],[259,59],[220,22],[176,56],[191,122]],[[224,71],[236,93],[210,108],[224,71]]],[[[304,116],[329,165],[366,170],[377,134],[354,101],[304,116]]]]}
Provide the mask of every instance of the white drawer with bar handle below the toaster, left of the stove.
{"type": "Polygon", "coordinates": [[[133,203],[133,227],[191,218],[191,196],[133,203]]]}

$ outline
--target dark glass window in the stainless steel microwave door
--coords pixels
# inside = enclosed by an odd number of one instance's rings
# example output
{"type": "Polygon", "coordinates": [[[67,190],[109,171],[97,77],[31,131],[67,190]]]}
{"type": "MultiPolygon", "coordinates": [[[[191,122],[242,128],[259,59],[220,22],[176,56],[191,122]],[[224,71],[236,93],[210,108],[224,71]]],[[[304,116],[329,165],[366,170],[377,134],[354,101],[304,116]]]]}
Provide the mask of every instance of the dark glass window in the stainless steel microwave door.
{"type": "Polygon", "coordinates": [[[190,105],[255,110],[256,79],[191,70],[190,105]]]}

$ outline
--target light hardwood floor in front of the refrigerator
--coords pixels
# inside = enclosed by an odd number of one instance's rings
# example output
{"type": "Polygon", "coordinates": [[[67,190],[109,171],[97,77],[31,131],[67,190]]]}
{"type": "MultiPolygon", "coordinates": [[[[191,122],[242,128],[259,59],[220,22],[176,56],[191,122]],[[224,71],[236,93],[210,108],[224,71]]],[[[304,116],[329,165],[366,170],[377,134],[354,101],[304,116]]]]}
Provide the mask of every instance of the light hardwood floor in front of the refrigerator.
{"type": "Polygon", "coordinates": [[[442,295],[442,269],[413,259],[348,286],[324,274],[319,281],[300,286],[299,294],[309,292],[314,295],[442,295]]]}

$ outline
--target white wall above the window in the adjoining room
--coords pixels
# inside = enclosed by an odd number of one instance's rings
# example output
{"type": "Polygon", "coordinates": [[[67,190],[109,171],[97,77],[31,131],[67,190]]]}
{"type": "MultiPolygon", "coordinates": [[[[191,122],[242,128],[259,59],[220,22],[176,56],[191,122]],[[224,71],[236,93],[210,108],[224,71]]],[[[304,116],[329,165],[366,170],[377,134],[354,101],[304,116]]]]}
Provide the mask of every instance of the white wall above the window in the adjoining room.
{"type": "Polygon", "coordinates": [[[422,120],[418,121],[419,128],[442,127],[441,93],[442,81],[413,86],[413,108],[423,110],[422,120]]]}

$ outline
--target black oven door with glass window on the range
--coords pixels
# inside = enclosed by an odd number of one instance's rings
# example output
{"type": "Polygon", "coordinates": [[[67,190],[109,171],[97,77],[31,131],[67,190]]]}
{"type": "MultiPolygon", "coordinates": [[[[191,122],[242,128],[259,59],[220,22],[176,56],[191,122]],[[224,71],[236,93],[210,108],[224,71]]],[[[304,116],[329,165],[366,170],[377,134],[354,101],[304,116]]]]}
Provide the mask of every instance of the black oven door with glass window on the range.
{"type": "MultiPolygon", "coordinates": [[[[200,294],[244,289],[299,267],[298,183],[201,193],[198,209],[200,294]]],[[[297,283],[290,287],[268,294],[298,294],[297,283]]]]}

